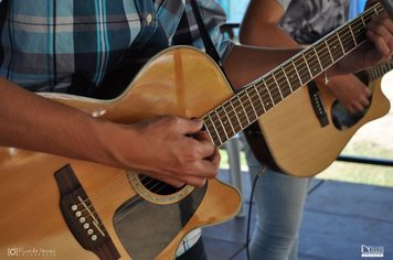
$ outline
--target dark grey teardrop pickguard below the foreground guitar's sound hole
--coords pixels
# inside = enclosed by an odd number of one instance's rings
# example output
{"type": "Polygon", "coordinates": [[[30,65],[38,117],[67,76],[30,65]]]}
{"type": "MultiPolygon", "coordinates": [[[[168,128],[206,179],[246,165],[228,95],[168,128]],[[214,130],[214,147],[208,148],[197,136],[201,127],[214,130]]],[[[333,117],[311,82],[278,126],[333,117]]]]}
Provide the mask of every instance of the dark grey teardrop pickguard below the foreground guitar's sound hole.
{"type": "Polygon", "coordinates": [[[156,259],[190,221],[202,203],[206,188],[208,184],[202,188],[194,188],[185,198],[167,205],[155,204],[141,197],[125,202],[116,210],[114,226],[129,256],[134,260],[156,259]]]}

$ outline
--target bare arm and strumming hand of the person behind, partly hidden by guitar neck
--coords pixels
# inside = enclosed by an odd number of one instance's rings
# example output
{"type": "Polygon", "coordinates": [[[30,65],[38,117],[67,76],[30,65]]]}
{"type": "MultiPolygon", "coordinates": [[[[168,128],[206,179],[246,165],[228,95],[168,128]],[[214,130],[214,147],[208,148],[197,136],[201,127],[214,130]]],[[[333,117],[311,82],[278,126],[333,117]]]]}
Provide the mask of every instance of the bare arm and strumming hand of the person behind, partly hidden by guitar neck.
{"type": "MultiPolygon", "coordinates": [[[[279,26],[284,14],[284,7],[277,0],[252,0],[242,21],[241,43],[268,47],[300,47],[300,44],[279,26]]],[[[325,85],[323,80],[319,83],[325,85]]],[[[370,89],[352,74],[330,77],[326,88],[350,112],[360,111],[369,105],[370,89]]]]}

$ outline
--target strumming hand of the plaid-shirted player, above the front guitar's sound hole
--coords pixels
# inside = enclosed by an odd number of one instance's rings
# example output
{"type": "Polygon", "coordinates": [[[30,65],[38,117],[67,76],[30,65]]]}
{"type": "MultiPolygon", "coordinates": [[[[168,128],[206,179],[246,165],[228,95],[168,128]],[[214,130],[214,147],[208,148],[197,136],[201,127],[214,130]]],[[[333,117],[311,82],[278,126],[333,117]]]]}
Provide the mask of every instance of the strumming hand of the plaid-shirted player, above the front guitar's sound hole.
{"type": "Polygon", "coordinates": [[[137,173],[178,187],[201,187],[206,178],[216,176],[220,166],[219,149],[201,129],[201,120],[174,116],[123,126],[116,137],[118,143],[111,144],[113,154],[124,167],[137,173]]]}

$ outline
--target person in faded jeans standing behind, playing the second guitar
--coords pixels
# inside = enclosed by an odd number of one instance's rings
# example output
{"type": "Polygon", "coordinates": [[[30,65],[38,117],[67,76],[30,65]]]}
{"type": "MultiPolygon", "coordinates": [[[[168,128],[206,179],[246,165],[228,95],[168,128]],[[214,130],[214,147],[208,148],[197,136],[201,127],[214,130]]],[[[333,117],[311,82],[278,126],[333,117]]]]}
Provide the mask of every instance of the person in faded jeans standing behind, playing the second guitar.
{"type": "MultiPolygon", "coordinates": [[[[251,0],[240,29],[241,44],[304,47],[348,20],[349,0],[251,0]]],[[[350,112],[369,106],[370,89],[352,74],[329,78],[325,86],[350,112]]],[[[297,259],[298,236],[309,177],[287,175],[261,163],[244,140],[255,186],[257,224],[251,259],[297,259]],[[263,171],[263,173],[262,173],[263,171]]]]}

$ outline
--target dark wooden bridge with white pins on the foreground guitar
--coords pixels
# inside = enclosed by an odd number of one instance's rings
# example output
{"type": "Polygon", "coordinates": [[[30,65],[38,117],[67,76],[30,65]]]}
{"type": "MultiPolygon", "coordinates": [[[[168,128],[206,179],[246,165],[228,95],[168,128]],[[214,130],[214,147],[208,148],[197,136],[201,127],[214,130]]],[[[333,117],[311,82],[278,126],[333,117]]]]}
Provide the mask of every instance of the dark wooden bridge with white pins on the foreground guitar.
{"type": "Polygon", "coordinates": [[[75,239],[99,259],[119,259],[119,252],[70,164],[54,176],[61,193],[63,217],[75,239]]]}

